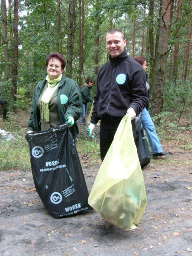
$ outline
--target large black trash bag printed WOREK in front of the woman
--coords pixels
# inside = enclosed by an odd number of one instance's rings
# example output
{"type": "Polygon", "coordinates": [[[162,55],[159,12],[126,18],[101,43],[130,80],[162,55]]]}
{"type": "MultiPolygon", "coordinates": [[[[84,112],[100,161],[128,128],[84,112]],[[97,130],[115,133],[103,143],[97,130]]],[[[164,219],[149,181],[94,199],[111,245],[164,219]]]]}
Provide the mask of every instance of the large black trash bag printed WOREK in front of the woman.
{"type": "Polygon", "coordinates": [[[48,212],[60,218],[92,209],[68,124],[29,133],[26,139],[35,188],[48,212]]]}

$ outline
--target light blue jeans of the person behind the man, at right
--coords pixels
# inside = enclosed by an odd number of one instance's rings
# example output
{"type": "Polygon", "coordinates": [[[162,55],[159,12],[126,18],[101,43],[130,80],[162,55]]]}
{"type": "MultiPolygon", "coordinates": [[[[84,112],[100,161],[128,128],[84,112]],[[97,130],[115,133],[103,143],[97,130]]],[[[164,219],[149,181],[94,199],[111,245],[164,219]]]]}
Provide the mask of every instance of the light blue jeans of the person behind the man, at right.
{"type": "Polygon", "coordinates": [[[141,120],[142,120],[142,126],[147,133],[152,154],[162,152],[163,151],[162,146],[156,134],[154,123],[146,108],[144,108],[141,112],[141,120]]]}

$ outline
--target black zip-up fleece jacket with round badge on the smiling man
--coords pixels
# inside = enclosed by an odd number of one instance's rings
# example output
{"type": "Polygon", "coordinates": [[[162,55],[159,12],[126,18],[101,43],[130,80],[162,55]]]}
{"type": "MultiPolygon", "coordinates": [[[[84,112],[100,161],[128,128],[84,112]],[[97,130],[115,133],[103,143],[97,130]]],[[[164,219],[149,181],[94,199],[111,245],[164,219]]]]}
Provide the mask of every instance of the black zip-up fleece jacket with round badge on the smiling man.
{"type": "Polygon", "coordinates": [[[146,74],[142,66],[124,50],[98,71],[91,123],[109,116],[120,119],[132,107],[136,115],[148,104],[146,74]]]}

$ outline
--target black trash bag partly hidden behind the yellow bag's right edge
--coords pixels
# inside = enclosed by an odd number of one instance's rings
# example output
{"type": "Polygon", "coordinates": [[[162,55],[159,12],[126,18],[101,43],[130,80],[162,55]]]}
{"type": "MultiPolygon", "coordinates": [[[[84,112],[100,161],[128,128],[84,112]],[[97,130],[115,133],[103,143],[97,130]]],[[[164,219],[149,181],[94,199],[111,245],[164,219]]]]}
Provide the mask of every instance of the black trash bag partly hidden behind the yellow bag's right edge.
{"type": "Polygon", "coordinates": [[[141,167],[148,165],[150,163],[150,150],[147,144],[147,139],[144,134],[143,128],[141,128],[140,133],[138,134],[138,137],[135,140],[135,144],[137,147],[137,154],[139,157],[139,162],[141,167]]]}

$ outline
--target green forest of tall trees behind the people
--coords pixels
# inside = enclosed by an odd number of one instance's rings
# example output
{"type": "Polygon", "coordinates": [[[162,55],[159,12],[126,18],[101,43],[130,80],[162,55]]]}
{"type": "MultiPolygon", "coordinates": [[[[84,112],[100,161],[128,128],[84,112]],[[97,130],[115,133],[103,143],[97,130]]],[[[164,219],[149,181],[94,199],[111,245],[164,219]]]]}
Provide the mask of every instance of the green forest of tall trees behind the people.
{"type": "MultiPolygon", "coordinates": [[[[108,60],[105,33],[122,30],[132,58],[148,60],[150,113],[178,125],[192,97],[191,0],[2,0],[0,98],[4,116],[26,108],[46,74],[45,58],[60,52],[64,73],[79,86],[96,80],[108,60]]],[[[94,90],[92,90],[94,94],[94,90]]]]}

